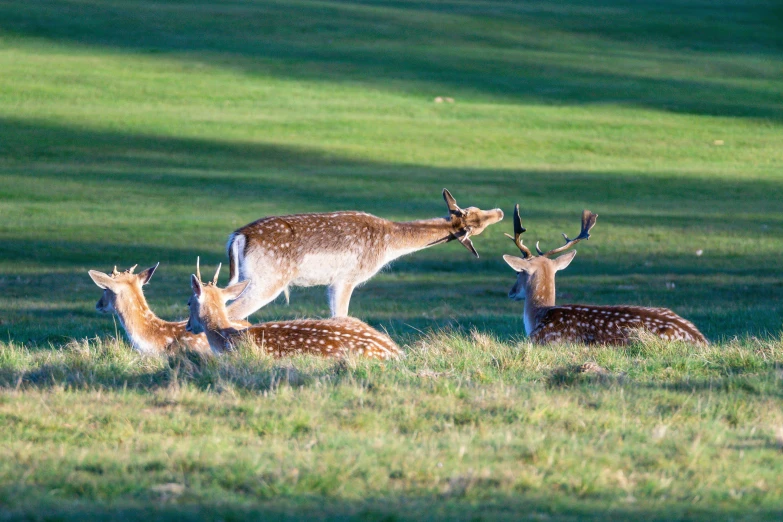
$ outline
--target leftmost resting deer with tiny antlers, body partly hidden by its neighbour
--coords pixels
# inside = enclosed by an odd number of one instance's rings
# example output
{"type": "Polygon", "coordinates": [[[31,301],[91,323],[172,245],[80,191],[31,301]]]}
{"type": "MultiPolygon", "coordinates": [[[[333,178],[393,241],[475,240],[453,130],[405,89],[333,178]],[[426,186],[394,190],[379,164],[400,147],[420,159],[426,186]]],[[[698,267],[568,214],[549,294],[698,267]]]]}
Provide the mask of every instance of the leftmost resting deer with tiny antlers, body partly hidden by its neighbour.
{"type": "Polygon", "coordinates": [[[92,280],[103,289],[95,309],[116,313],[131,344],[142,353],[170,353],[182,347],[209,352],[206,336],[185,331],[185,321],[164,321],[150,310],[142,286],[149,283],[158,265],[160,263],[138,274],[133,273],[138,265],[124,272],[118,272],[115,266],[111,275],[90,270],[92,280]]]}

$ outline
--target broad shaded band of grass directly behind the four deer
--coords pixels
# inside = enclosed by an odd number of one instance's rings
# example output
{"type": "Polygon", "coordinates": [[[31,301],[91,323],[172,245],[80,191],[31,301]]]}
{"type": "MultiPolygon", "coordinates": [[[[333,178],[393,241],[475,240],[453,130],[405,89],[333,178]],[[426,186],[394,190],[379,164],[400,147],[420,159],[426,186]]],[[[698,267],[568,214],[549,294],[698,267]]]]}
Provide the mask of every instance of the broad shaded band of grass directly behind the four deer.
{"type": "MultiPolygon", "coordinates": [[[[569,302],[613,304],[628,294],[633,304],[675,310],[710,303],[709,310],[688,317],[700,326],[715,325],[720,335],[779,329],[783,280],[775,268],[778,252],[770,245],[783,230],[778,209],[783,184],[775,180],[431,168],[264,143],[99,132],[7,118],[0,119],[0,135],[6,138],[0,143],[0,190],[4,204],[16,209],[16,221],[0,231],[5,264],[0,292],[11,314],[0,318],[0,332],[16,339],[21,330],[35,330],[29,335],[45,343],[62,335],[58,321],[71,328],[103,321],[100,331],[111,333],[111,323],[93,315],[99,292],[87,269],[160,261],[147,289],[153,308],[165,296],[169,311],[161,315],[182,318],[196,256],[223,259],[226,237],[238,226],[270,213],[338,209],[397,219],[433,217],[444,212],[444,185],[466,206],[511,209],[521,200],[531,216],[530,233],[544,247],[557,240],[558,231],[577,225],[582,208],[596,210],[602,240],[580,248],[579,271],[558,279],[558,288],[572,296],[569,302]],[[400,184],[401,177],[415,182],[400,184]],[[635,195],[633,202],[628,194],[635,195]],[[225,201],[232,205],[227,208],[225,201]],[[699,246],[709,247],[697,259],[688,250],[673,251],[673,237],[698,238],[699,246]],[[733,249],[749,238],[766,246],[733,249]],[[569,283],[574,277],[583,280],[569,283]],[[611,280],[618,277],[637,281],[622,294],[611,280]],[[673,279],[677,290],[665,284],[673,279]],[[50,323],[55,326],[46,331],[50,323]]],[[[481,259],[469,258],[459,245],[403,258],[391,277],[384,274],[356,292],[353,309],[364,318],[419,329],[481,317],[510,334],[502,324],[507,317],[490,317],[521,314],[506,298],[513,274],[499,257],[513,249],[500,236],[510,226],[504,223],[475,239],[481,259]],[[457,279],[459,285],[444,283],[457,279]],[[427,298],[411,300],[416,292],[427,298]],[[465,295],[474,300],[473,310],[459,306],[465,295]]],[[[259,316],[327,313],[322,289],[294,293],[295,305],[300,296],[314,296],[313,306],[270,307],[259,316]]],[[[78,337],[96,330],[72,331],[78,337]]],[[[714,335],[709,328],[706,333],[714,335]]]]}

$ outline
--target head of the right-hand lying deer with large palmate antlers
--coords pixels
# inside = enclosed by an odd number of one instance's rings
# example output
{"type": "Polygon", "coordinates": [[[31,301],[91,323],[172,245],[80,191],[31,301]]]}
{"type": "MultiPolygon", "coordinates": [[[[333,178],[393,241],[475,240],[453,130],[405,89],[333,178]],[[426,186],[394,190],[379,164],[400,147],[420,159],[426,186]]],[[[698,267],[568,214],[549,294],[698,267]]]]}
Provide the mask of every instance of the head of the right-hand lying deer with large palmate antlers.
{"type": "Polygon", "coordinates": [[[522,243],[521,236],[526,232],[526,229],[522,226],[522,221],[519,217],[519,205],[516,205],[514,207],[514,236],[512,237],[509,234],[506,234],[506,236],[514,241],[519,251],[522,252],[522,257],[503,256],[506,263],[517,272],[517,281],[509,291],[508,296],[514,300],[522,300],[528,297],[528,294],[535,293],[540,300],[551,299],[551,304],[554,305],[555,273],[558,270],[565,269],[571,263],[574,256],[576,256],[576,250],[554,259],[550,259],[549,256],[564,252],[583,239],[589,239],[590,229],[595,226],[597,218],[597,214],[584,210],[582,212],[582,231],[577,237],[569,239],[568,236],[563,234],[563,238],[566,241],[565,245],[548,252],[542,252],[538,243],[536,243],[538,255],[534,256],[530,249],[522,243]]]}

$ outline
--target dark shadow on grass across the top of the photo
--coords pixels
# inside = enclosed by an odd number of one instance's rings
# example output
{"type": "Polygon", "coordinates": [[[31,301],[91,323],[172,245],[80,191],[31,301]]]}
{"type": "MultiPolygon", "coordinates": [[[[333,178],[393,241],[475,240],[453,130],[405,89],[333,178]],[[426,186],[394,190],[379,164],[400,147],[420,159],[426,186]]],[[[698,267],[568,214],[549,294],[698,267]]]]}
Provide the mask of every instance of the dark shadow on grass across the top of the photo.
{"type": "Polygon", "coordinates": [[[780,121],[783,11],[773,4],[40,0],[0,6],[0,27],[17,37],[425,96],[780,121]]]}

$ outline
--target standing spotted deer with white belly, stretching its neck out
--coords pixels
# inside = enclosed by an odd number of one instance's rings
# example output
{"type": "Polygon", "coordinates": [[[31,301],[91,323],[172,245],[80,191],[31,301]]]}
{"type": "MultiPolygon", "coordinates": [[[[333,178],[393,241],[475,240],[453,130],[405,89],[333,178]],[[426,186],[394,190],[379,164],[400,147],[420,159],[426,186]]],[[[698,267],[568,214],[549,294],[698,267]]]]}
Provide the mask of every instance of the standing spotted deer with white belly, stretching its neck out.
{"type": "Polygon", "coordinates": [[[328,285],[332,316],[348,315],[353,289],[395,259],[457,240],[478,257],[471,236],[503,219],[500,209],[462,209],[448,190],[445,218],[393,222],[363,212],[295,214],[259,219],[228,240],[230,280],[250,280],[228,307],[244,319],[289,286],[328,285]]]}

